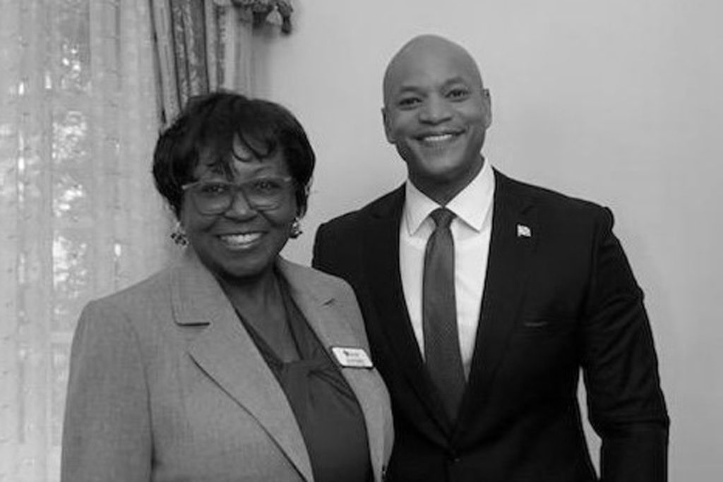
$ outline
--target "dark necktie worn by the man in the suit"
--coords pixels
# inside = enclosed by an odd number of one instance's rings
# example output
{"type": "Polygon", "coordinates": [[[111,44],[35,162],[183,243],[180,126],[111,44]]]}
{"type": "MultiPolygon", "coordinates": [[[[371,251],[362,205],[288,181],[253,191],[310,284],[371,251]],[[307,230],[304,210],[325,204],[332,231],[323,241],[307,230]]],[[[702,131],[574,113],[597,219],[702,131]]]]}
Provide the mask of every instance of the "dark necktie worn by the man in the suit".
{"type": "Polygon", "coordinates": [[[422,326],[427,370],[442,397],[450,421],[457,418],[464,393],[464,370],[457,332],[454,285],[454,213],[443,207],[430,215],[435,231],[424,251],[422,326]]]}

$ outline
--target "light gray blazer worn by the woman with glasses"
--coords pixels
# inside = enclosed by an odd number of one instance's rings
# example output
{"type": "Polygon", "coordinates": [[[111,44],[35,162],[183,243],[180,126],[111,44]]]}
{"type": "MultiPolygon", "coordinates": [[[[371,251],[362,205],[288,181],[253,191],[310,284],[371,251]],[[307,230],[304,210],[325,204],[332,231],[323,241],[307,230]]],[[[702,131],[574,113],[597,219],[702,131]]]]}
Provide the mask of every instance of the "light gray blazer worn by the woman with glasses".
{"type": "MultiPolygon", "coordinates": [[[[281,258],[277,266],[322,345],[369,353],[345,282],[281,258]]],[[[364,413],[381,481],[393,442],[387,390],[376,369],[341,373],[364,413]]],[[[83,310],[61,467],[63,482],[314,480],[286,395],[192,254],[83,310]]]]}

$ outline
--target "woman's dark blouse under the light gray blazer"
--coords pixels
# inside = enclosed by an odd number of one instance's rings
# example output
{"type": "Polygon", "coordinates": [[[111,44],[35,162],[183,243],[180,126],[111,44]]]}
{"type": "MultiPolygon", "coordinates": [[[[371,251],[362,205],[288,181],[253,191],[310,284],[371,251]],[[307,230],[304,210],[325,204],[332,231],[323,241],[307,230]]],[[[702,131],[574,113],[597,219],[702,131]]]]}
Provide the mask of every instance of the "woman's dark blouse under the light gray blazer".
{"type": "Polygon", "coordinates": [[[286,319],[299,359],[284,363],[239,314],[286,393],[307,445],[316,482],[373,480],[364,415],[327,350],[279,280],[286,319]]]}

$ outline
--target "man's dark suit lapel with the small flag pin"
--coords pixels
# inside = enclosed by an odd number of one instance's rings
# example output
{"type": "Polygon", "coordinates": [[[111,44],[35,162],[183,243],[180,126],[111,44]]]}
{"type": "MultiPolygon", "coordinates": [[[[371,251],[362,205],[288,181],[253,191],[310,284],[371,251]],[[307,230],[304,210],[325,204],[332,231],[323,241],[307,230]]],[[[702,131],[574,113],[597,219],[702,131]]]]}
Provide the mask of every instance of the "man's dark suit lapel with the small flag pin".
{"type": "Polygon", "coordinates": [[[507,350],[518,318],[531,255],[536,246],[537,223],[531,199],[501,173],[495,171],[492,237],[489,242],[487,277],[474,355],[458,429],[479,413],[507,350]]]}

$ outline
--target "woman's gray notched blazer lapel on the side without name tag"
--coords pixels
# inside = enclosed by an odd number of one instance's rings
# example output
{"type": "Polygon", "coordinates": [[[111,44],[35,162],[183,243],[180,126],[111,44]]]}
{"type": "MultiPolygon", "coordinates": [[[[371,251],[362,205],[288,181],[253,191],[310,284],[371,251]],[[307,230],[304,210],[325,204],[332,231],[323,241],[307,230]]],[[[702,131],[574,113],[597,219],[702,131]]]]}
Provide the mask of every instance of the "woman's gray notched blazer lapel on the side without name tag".
{"type": "Polygon", "coordinates": [[[174,271],[171,291],[179,324],[208,324],[189,343],[189,355],[257,419],[304,479],[312,481],[311,461],[286,395],[213,275],[189,253],[174,271]]]}

